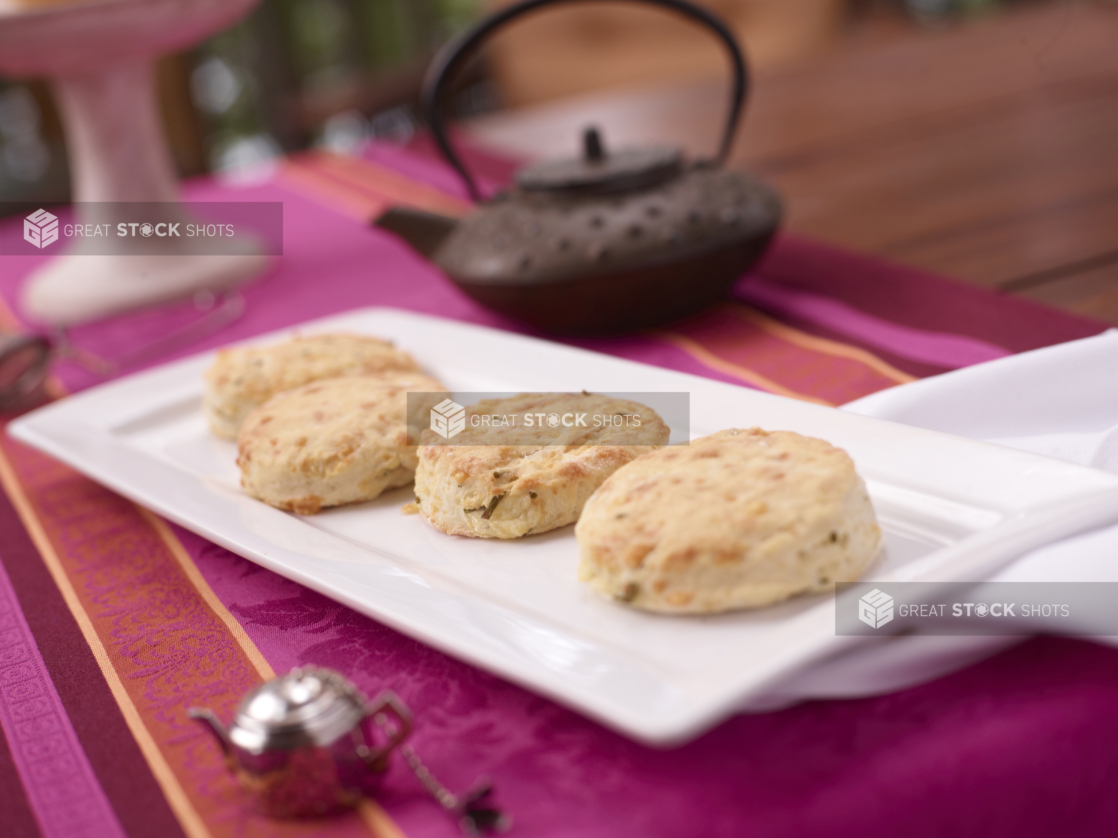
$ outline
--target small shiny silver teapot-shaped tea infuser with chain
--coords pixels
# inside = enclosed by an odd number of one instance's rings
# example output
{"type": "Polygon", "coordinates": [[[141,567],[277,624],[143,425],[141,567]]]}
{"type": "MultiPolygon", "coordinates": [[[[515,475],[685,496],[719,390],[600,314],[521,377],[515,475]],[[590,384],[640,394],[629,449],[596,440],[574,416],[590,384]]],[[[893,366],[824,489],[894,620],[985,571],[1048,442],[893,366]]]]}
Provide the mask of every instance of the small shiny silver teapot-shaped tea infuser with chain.
{"type": "Polygon", "coordinates": [[[424,789],[457,818],[463,831],[503,830],[509,820],[487,801],[489,782],[454,794],[405,743],[410,711],[392,693],[369,702],[340,673],[306,666],[245,696],[227,729],[203,707],[188,711],[214,734],[229,770],[262,813],[276,818],[329,815],[375,794],[399,751],[424,789]]]}

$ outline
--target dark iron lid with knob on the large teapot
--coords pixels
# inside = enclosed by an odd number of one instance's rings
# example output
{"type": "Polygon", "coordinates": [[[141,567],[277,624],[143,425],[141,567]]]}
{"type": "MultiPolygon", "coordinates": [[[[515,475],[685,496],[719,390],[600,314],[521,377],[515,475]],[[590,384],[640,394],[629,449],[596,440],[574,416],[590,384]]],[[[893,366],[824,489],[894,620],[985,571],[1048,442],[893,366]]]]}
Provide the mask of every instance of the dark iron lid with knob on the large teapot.
{"type": "Polygon", "coordinates": [[[528,191],[579,190],[619,192],[670,180],[683,169],[679,149],[648,146],[607,153],[595,127],[582,133],[582,156],[546,160],[517,172],[517,185],[528,191]]]}

